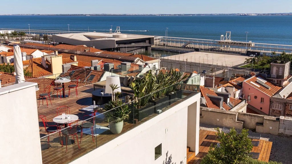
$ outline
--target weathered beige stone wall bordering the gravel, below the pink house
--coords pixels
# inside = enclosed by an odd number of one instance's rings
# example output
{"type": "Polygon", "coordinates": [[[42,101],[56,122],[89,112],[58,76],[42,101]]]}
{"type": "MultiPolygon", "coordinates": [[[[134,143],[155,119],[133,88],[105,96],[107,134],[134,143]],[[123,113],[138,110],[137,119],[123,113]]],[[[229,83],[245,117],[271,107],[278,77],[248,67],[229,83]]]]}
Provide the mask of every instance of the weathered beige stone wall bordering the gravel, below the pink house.
{"type": "Polygon", "coordinates": [[[292,135],[291,117],[273,117],[244,112],[225,111],[201,107],[200,123],[235,127],[237,129],[255,129],[256,132],[272,135],[292,135]]]}

